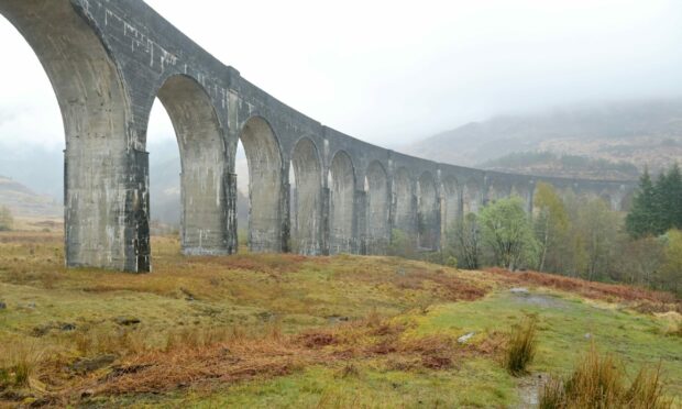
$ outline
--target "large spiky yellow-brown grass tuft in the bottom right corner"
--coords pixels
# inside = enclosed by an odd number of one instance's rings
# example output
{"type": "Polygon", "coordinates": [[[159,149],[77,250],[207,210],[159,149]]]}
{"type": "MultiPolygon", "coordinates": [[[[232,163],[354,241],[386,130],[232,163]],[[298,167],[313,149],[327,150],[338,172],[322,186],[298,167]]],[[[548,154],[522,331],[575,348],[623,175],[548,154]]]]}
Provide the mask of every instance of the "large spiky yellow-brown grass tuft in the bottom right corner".
{"type": "Polygon", "coordinates": [[[625,365],[612,355],[601,356],[591,347],[573,374],[561,380],[551,378],[540,394],[542,409],[632,408],[668,409],[661,366],[641,368],[628,385],[625,365]]]}

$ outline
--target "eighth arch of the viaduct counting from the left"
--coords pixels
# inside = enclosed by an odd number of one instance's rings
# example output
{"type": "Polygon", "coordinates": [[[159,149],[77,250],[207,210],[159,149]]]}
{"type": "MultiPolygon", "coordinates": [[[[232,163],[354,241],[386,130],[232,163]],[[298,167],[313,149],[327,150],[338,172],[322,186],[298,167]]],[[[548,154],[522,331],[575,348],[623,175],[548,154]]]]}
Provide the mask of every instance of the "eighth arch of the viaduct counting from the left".
{"type": "Polygon", "coordinates": [[[421,174],[417,188],[418,244],[421,248],[437,250],[440,221],[438,218],[438,191],[433,175],[429,172],[421,174]]]}

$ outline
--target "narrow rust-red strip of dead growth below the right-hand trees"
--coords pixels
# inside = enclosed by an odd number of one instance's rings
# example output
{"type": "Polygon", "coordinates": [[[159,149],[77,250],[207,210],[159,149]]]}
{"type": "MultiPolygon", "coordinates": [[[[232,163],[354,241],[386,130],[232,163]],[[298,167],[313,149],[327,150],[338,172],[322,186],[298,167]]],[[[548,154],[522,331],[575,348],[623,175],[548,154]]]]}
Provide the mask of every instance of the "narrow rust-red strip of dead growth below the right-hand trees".
{"type": "Polygon", "coordinates": [[[682,300],[675,298],[671,292],[654,291],[636,286],[587,281],[581,278],[538,272],[512,273],[504,268],[488,268],[486,272],[504,278],[512,285],[542,286],[608,302],[626,301],[640,312],[676,311],[682,313],[682,300]]]}

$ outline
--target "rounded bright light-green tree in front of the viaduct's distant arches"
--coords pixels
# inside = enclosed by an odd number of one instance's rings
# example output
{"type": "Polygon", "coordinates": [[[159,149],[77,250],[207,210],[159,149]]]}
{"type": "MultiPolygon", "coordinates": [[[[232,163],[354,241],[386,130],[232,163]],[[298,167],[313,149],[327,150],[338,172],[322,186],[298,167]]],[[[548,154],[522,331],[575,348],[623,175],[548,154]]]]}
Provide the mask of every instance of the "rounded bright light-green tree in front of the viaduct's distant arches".
{"type": "Polygon", "coordinates": [[[481,211],[483,243],[488,246],[497,265],[514,270],[532,264],[538,244],[520,198],[501,199],[481,211]]]}

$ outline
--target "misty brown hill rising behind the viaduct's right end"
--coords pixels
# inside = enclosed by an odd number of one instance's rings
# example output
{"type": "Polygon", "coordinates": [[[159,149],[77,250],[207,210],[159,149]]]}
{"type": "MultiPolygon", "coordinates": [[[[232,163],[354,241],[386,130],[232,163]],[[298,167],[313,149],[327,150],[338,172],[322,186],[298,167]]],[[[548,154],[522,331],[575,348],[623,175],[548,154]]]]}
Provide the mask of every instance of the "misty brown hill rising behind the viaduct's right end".
{"type": "Polygon", "coordinates": [[[473,122],[406,146],[404,152],[463,166],[512,153],[550,152],[653,173],[682,161],[682,99],[558,108],[473,122]]]}

